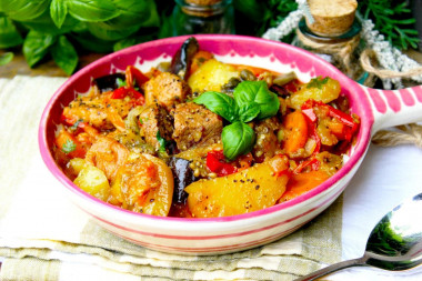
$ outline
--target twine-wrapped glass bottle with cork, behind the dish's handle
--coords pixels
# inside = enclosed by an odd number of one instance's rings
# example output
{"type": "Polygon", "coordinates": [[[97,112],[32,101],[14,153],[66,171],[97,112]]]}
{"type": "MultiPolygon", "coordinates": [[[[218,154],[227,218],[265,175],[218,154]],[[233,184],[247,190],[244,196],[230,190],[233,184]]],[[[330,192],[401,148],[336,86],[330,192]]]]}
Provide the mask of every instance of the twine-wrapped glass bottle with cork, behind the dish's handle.
{"type": "Polygon", "coordinates": [[[364,43],[355,19],[355,0],[309,0],[312,20],[299,22],[294,44],[335,66],[351,79],[371,86],[359,58],[364,43]]]}

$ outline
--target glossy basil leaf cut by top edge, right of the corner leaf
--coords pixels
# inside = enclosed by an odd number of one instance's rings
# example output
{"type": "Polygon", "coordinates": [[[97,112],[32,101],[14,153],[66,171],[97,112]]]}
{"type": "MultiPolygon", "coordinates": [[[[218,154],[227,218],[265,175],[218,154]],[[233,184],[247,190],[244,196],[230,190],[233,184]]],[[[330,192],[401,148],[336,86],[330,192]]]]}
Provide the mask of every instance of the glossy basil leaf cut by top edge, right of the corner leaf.
{"type": "Polygon", "coordinates": [[[111,0],[72,0],[68,1],[69,13],[80,21],[105,21],[119,16],[119,10],[111,0]]]}

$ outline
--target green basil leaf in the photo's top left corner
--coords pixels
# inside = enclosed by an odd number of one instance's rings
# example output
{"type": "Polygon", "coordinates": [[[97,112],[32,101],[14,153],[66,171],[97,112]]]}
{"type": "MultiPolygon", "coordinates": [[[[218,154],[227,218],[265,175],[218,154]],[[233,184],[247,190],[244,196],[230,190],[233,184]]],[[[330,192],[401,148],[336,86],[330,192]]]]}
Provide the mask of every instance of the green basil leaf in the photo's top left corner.
{"type": "Polygon", "coordinates": [[[34,19],[49,9],[50,0],[1,0],[1,10],[13,20],[34,19]]]}

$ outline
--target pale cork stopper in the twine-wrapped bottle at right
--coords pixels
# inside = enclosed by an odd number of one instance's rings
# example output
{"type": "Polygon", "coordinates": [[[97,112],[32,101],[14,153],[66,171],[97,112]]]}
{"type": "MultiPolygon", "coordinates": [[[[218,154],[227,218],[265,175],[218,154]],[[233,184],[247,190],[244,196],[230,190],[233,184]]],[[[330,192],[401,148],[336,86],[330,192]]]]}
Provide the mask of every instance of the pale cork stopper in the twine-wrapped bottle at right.
{"type": "Polygon", "coordinates": [[[308,28],[322,37],[336,37],[350,30],[358,8],[356,0],[308,0],[313,23],[308,28]]]}

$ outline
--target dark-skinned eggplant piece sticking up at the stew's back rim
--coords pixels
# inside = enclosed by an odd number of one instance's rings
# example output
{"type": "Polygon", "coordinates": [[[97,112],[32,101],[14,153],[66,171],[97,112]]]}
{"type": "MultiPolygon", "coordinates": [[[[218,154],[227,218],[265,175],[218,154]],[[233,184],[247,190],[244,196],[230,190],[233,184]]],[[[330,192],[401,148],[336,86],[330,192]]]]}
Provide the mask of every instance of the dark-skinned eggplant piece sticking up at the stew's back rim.
{"type": "Polygon", "coordinates": [[[171,60],[170,72],[187,80],[192,59],[199,51],[199,43],[194,37],[188,38],[171,60]]]}

